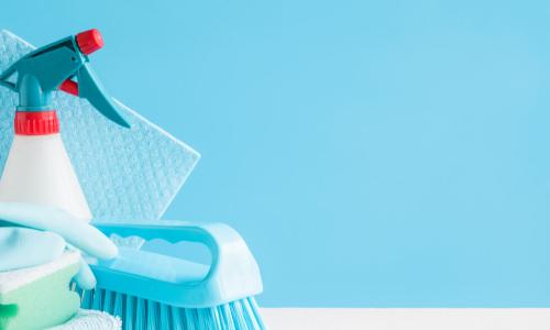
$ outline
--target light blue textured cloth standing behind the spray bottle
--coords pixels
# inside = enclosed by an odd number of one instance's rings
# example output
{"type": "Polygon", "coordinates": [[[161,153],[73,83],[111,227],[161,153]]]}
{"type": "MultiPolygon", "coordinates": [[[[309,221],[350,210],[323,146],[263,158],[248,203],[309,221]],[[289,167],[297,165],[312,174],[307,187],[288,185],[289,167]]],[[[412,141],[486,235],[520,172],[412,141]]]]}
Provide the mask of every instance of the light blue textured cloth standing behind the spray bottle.
{"type": "MultiPolygon", "coordinates": [[[[33,48],[0,31],[0,72],[33,48]]],[[[114,222],[158,220],[200,155],[117,103],[130,130],[107,120],[86,100],[61,91],[53,97],[65,147],[94,217],[114,222]]],[[[15,105],[16,95],[0,88],[0,172],[13,139],[15,105]]]]}

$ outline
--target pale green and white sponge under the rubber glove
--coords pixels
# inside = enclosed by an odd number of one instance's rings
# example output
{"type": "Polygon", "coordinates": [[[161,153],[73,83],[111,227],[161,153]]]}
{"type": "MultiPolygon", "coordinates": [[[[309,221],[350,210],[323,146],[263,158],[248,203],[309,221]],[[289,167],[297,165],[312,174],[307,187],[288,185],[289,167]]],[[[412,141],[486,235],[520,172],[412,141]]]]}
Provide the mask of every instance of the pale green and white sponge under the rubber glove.
{"type": "Polygon", "coordinates": [[[80,305],[69,283],[79,268],[78,252],[12,272],[0,272],[0,330],[40,330],[66,322],[80,305]]]}

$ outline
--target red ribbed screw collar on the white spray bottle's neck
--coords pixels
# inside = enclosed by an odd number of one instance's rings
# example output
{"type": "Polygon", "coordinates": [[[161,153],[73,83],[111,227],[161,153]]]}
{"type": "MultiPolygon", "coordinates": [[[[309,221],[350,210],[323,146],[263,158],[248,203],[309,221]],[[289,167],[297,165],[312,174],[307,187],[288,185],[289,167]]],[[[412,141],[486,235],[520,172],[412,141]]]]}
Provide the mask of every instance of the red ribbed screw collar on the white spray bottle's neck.
{"type": "Polygon", "coordinates": [[[15,111],[13,123],[16,135],[50,135],[59,133],[59,120],[55,110],[15,111]]]}

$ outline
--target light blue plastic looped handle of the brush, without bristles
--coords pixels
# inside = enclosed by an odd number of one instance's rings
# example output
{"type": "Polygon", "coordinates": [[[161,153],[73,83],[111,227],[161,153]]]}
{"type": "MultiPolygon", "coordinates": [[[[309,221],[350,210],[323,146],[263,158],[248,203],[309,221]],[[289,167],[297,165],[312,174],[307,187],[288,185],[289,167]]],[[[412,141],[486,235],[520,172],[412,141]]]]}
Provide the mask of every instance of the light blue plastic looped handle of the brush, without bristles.
{"type": "MultiPolygon", "coordinates": [[[[262,279],[257,263],[241,235],[223,223],[193,224],[183,221],[95,223],[105,234],[136,235],[206,245],[212,256],[210,270],[201,280],[169,283],[135,274],[92,266],[98,287],[177,307],[201,308],[257,295],[262,279]]],[[[136,261],[139,262],[139,261],[136,261]]]]}

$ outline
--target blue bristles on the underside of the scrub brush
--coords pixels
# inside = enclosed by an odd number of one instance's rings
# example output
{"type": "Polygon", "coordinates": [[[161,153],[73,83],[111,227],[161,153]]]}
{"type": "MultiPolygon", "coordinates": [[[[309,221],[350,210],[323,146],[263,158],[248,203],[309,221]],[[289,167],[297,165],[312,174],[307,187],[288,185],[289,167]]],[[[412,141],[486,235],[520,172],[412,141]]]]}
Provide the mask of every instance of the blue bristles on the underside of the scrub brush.
{"type": "Polygon", "coordinates": [[[81,308],[118,316],[125,330],[266,329],[254,297],[211,308],[179,308],[100,288],[81,296],[81,308]]]}

